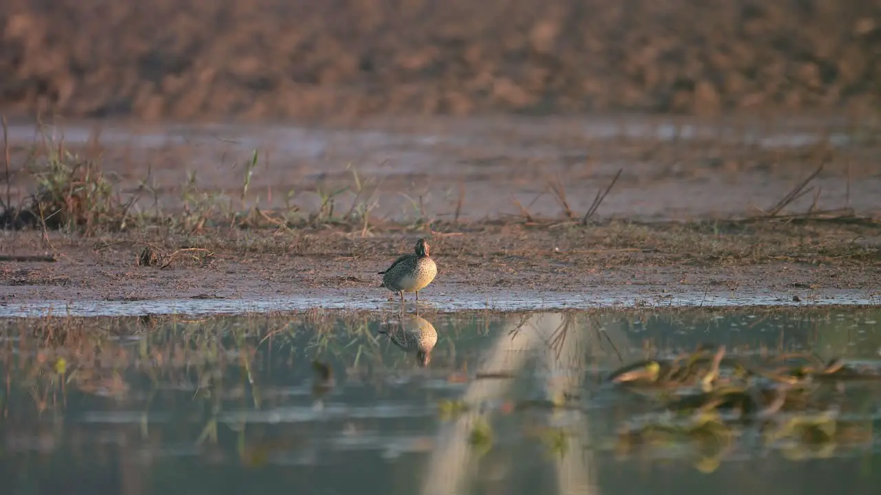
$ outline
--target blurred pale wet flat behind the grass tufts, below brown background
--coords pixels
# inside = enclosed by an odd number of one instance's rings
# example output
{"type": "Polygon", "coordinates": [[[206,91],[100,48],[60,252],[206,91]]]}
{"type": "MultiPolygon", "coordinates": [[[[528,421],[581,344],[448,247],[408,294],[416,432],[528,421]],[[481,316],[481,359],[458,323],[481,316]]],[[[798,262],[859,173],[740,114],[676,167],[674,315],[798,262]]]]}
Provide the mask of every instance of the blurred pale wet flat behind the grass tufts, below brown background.
{"type": "MultiPolygon", "coordinates": [[[[816,164],[803,157],[818,145],[833,150],[838,165],[811,181],[822,195],[803,196],[788,211],[837,210],[847,204],[855,214],[873,216],[877,202],[872,198],[881,188],[872,161],[875,127],[829,116],[771,121],[648,115],[380,118],[320,127],[64,121],[43,127],[13,123],[9,139],[13,161],[19,155],[25,159],[24,151],[44,139],[63,141],[86,157],[100,144],[101,169],[123,202],[134,200],[131,211],[181,211],[182,185],[192,177],[200,192],[218,194],[218,201],[237,198],[241,164],[256,151],[260,165],[248,168],[245,199],[261,210],[315,211],[322,204],[318,188],[353,186],[357,172],[369,194],[347,190],[336,196],[336,204],[369,203],[374,218],[410,223],[416,200],[419,211],[432,218],[518,216],[522,211],[512,197],[528,204],[535,218],[559,218],[557,200],[542,194],[547,181],[563,181],[569,207],[584,212],[596,190],[623,169],[622,181],[597,215],[677,221],[743,218],[756,214],[754,206],[770,208],[781,191],[811,174],[816,164]],[[850,174],[845,177],[840,168],[845,162],[855,174],[849,183],[850,174]],[[144,185],[151,194],[141,194],[144,185]]],[[[31,193],[33,184],[18,174],[12,197],[31,193]]]]}

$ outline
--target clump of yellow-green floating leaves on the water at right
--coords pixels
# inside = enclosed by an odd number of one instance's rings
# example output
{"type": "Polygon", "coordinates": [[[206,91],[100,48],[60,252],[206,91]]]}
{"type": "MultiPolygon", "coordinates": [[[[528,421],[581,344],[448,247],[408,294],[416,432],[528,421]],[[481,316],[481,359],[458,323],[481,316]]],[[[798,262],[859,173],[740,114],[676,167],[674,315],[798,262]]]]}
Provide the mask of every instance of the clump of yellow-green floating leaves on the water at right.
{"type": "Polygon", "coordinates": [[[651,413],[620,429],[619,455],[689,445],[695,467],[711,472],[750,431],[789,459],[870,447],[865,398],[877,396],[871,383],[879,379],[878,366],[843,358],[824,362],[812,353],[781,353],[747,359],[727,356],[720,346],[636,362],[606,381],[654,403],[651,413]],[[843,419],[843,411],[865,418],[843,419]]]}

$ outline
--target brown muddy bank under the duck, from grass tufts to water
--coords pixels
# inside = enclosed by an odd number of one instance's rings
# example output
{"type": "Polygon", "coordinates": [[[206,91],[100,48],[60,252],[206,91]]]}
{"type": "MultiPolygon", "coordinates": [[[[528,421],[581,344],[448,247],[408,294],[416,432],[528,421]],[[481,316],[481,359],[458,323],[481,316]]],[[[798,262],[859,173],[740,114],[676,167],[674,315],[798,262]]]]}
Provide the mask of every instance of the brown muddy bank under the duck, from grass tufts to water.
{"type": "MultiPolygon", "coordinates": [[[[420,292],[422,307],[430,310],[881,303],[877,247],[847,251],[845,239],[854,232],[801,226],[729,234],[746,238],[738,243],[711,234],[686,237],[676,231],[683,227],[671,225],[626,230],[635,228],[470,225],[468,232],[388,232],[364,239],[322,230],[271,244],[257,244],[273,237],[257,232],[237,240],[205,238],[200,245],[209,257],[178,256],[165,268],[137,265],[142,240],[59,235],[52,239],[57,262],[0,263],[0,313],[395,309],[397,300],[378,286],[376,272],[422,235],[432,239],[440,269],[420,292]],[[817,246],[788,247],[783,241],[805,235],[822,238],[826,249],[838,239],[844,251],[818,255],[817,246]],[[722,250],[700,254],[713,243],[722,250]],[[754,252],[744,255],[743,249],[754,252]]],[[[190,248],[167,241],[167,252],[190,248]]],[[[5,252],[33,254],[42,243],[41,233],[4,234],[5,252]]],[[[408,294],[406,307],[413,305],[408,294]]]]}

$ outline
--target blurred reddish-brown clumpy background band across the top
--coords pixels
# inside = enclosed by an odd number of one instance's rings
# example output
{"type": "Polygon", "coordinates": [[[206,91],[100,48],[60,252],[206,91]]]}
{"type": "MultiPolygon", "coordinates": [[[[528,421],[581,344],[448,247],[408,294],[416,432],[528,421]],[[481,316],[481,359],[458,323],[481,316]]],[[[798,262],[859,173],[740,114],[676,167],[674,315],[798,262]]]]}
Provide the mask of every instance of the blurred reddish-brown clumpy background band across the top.
{"type": "Polygon", "coordinates": [[[5,0],[0,108],[249,120],[877,109],[881,0],[5,0]]]}

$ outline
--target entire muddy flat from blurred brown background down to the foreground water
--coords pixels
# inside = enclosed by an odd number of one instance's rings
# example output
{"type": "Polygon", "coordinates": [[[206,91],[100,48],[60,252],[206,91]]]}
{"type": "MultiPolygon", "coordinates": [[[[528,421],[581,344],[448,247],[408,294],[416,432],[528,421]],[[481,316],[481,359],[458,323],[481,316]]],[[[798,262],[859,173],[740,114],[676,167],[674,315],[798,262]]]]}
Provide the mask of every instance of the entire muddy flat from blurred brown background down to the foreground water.
{"type": "MultiPolygon", "coordinates": [[[[0,306],[386,307],[376,272],[420,236],[440,267],[420,295],[438,310],[877,304],[877,140],[833,123],[738,122],[71,122],[44,130],[48,143],[100,164],[129,217],[0,232],[0,255],[57,260],[0,262],[0,306]],[[768,214],[820,164],[805,194],[768,214]],[[168,262],[140,266],[144,247],[168,262]]],[[[11,130],[14,203],[48,148],[33,127],[11,130]],[[28,163],[34,144],[46,149],[28,163]]]]}

